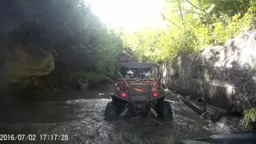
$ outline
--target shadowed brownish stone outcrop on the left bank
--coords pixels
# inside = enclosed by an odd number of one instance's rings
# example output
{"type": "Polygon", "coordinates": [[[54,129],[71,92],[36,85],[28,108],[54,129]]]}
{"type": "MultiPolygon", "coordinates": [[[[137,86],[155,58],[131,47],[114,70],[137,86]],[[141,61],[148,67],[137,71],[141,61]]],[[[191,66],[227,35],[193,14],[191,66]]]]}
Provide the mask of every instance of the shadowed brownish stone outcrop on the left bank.
{"type": "Polygon", "coordinates": [[[41,77],[54,70],[54,56],[38,47],[15,44],[2,47],[0,54],[0,87],[26,82],[26,78],[41,77]],[[25,78],[25,79],[24,79],[25,78]]]}

